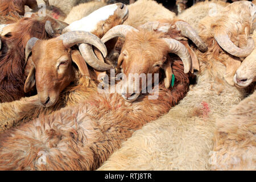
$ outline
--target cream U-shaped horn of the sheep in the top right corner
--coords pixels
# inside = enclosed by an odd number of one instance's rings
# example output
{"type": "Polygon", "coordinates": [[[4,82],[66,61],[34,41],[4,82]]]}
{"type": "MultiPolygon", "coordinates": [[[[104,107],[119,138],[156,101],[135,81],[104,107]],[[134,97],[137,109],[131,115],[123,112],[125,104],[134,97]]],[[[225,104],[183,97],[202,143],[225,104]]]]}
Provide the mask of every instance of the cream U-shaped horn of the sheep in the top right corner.
{"type": "Polygon", "coordinates": [[[243,48],[237,47],[229,38],[228,34],[225,33],[217,33],[214,32],[214,38],[217,43],[220,45],[222,49],[226,52],[230,53],[230,55],[237,56],[237,57],[246,57],[250,55],[250,53],[254,49],[254,41],[251,37],[247,39],[247,45],[243,48]]]}

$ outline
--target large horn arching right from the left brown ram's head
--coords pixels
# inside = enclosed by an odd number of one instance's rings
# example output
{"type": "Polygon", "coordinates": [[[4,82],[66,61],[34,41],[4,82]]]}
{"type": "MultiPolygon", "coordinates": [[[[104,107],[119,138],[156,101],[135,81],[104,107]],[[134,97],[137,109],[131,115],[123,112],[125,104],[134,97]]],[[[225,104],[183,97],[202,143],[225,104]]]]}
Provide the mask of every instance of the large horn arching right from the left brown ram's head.
{"type": "Polygon", "coordinates": [[[96,35],[85,31],[71,31],[58,37],[63,41],[65,47],[72,47],[76,44],[86,43],[97,47],[102,55],[106,57],[108,51],[105,44],[96,35]]]}

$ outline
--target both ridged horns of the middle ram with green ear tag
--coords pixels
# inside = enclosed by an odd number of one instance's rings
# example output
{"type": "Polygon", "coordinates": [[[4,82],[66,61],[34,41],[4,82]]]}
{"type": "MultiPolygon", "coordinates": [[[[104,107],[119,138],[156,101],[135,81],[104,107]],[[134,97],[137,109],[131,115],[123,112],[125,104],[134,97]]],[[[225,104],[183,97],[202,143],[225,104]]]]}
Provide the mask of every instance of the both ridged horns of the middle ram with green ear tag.
{"type": "MultiPolygon", "coordinates": [[[[134,27],[128,25],[118,25],[110,29],[102,37],[102,42],[108,42],[108,40],[113,39],[117,36],[125,38],[128,32],[138,30],[134,27]]],[[[184,73],[188,73],[191,69],[191,56],[189,55],[188,49],[179,41],[171,38],[162,38],[164,42],[168,45],[169,52],[175,53],[180,57],[184,64],[184,73]]]]}

